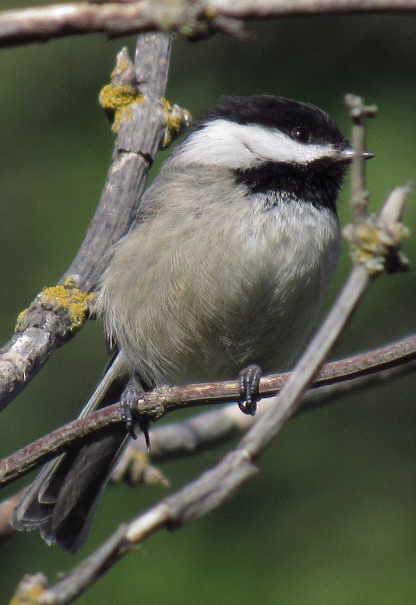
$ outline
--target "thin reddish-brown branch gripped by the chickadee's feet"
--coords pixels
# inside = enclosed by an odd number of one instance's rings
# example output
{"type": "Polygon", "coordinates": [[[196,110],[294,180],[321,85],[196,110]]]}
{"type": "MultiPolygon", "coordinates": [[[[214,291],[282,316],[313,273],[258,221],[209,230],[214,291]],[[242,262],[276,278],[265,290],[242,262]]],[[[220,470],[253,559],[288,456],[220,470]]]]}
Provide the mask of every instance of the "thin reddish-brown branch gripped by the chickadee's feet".
{"type": "MultiPolygon", "coordinates": [[[[391,371],[394,369],[397,370],[397,374],[412,371],[415,365],[414,362],[416,362],[416,335],[368,353],[326,364],[317,374],[313,384],[313,387],[318,389],[319,393],[308,393],[299,411],[325,405],[330,397],[336,397],[337,393],[345,394],[349,389],[358,388],[359,385],[377,384],[385,378],[388,371],[390,372],[389,377],[392,376],[391,371]],[[362,381],[357,384],[357,379],[363,378],[367,378],[367,382],[362,381]],[[352,386],[348,387],[348,384],[352,386]],[[322,387],[328,387],[328,385],[334,385],[334,388],[331,391],[328,391],[328,389],[322,391],[322,387]]],[[[264,376],[259,386],[261,397],[275,396],[287,382],[289,376],[290,373],[264,376]]],[[[238,392],[238,381],[186,385],[183,387],[161,387],[143,394],[143,397],[138,401],[138,411],[140,414],[145,414],[146,417],[157,420],[167,413],[186,407],[234,402],[237,399],[238,392]]],[[[265,409],[266,407],[262,405],[259,408],[258,416],[261,416],[265,409]]],[[[218,411],[216,414],[219,416],[219,422],[215,422],[216,429],[215,434],[211,437],[212,440],[218,439],[218,434],[223,434],[224,427],[227,426],[221,422],[221,412],[218,411]]],[[[238,414],[238,419],[234,419],[234,422],[238,422],[240,425],[239,431],[247,430],[250,427],[251,422],[247,421],[247,418],[249,417],[238,414]]],[[[223,418],[223,420],[225,419],[223,418]]],[[[47,462],[47,460],[68,450],[68,447],[83,442],[91,433],[106,430],[111,425],[122,422],[124,422],[124,419],[123,414],[120,413],[119,404],[102,408],[93,414],[73,420],[65,427],[53,431],[53,433],[38,439],[2,460],[0,462],[0,487],[24,476],[37,466],[47,462]]],[[[236,425],[234,428],[230,427],[230,430],[235,432],[235,428],[236,425]]],[[[151,439],[152,458],[154,457],[154,448],[156,447],[156,451],[158,448],[158,431],[153,432],[155,437],[151,439]]],[[[200,430],[197,432],[200,434],[200,430]]],[[[179,438],[179,435],[180,431],[177,432],[177,438],[179,438]]],[[[225,436],[222,439],[225,439],[225,436]]],[[[175,439],[175,443],[177,443],[177,439],[175,439]]],[[[140,447],[138,449],[141,450],[140,447]]],[[[177,455],[179,454],[180,451],[177,452],[177,455]]]]}

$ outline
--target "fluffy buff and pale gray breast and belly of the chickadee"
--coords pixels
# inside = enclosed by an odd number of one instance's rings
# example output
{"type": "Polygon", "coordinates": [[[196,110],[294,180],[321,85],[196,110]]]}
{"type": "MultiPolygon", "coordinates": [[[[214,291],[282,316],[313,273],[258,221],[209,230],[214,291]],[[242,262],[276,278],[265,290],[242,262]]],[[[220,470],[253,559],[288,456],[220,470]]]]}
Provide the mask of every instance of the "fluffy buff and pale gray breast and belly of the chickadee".
{"type": "Polygon", "coordinates": [[[204,172],[204,198],[201,175],[185,178],[149,189],[149,219],[117,246],[100,295],[109,334],[149,384],[287,367],[336,266],[336,217],[311,204],[265,211],[226,171],[204,172]]]}

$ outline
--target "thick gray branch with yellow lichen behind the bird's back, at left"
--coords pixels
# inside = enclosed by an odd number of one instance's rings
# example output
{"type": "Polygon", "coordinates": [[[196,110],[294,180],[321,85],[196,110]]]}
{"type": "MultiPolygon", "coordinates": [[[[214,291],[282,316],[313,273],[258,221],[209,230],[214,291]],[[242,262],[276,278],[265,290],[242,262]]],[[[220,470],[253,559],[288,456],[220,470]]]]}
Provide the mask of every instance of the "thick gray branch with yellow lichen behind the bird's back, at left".
{"type": "MultiPolygon", "coordinates": [[[[130,87],[135,97],[123,105],[124,111],[120,102],[119,133],[105,188],[85,240],[60,280],[62,285],[36,297],[19,315],[16,334],[0,350],[0,411],[82,325],[92,302],[88,293],[97,286],[103,258],[134,220],[159,146],[187,118],[176,107],[169,110],[161,98],[170,51],[167,34],[143,34],[138,38],[134,63],[126,49],[117,57],[112,86],[130,87]]],[[[115,95],[115,102],[117,99],[120,95],[115,95]]]]}

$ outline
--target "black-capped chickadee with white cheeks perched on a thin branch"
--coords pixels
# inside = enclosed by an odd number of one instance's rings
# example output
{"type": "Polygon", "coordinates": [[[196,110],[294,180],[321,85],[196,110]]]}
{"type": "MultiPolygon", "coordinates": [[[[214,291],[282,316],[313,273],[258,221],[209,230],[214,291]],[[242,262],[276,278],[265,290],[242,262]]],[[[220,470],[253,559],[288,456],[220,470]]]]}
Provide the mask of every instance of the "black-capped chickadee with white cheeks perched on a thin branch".
{"type": "MultiPolygon", "coordinates": [[[[114,384],[129,377],[151,388],[232,379],[249,364],[287,370],[339,258],[336,201],[353,155],[310,103],[224,97],[203,114],[112,250],[98,307],[119,354],[82,414],[118,401],[114,384]]],[[[13,526],[75,552],[125,440],[113,430],[47,465],[13,526]]]]}

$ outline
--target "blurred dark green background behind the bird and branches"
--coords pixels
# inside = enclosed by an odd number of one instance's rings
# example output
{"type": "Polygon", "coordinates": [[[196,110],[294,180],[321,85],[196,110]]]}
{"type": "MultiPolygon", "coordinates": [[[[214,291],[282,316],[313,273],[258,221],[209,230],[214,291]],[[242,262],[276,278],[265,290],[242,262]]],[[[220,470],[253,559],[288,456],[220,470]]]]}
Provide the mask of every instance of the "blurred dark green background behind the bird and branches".
{"type": "MultiPolygon", "coordinates": [[[[1,8],[24,5],[6,0],[1,8]]],[[[348,132],[343,95],[362,94],[379,105],[368,136],[375,210],[392,186],[415,177],[415,26],[412,15],[325,16],[250,24],[251,42],[176,39],[167,97],[195,114],[219,94],[279,94],[316,103],[348,132]]],[[[68,267],[94,213],[114,139],[97,94],[123,45],[133,50],[134,39],[79,36],[1,50],[1,343],[18,312],[68,267]]],[[[348,186],[343,224],[347,200],[348,186]]],[[[414,230],[414,203],[406,223],[414,230]]],[[[415,237],[405,251],[415,263],[415,237]]],[[[348,269],[345,252],[330,299],[348,269]]],[[[414,272],[380,278],[334,355],[411,333],[414,284],[414,272]]],[[[102,327],[89,322],[2,414],[1,456],[76,416],[105,359],[102,327]]],[[[261,473],[232,500],[193,526],[152,537],[79,603],[415,603],[414,427],[412,376],[291,421],[259,460],[261,473]]],[[[221,454],[162,470],[177,489],[221,454]]],[[[168,492],[109,487],[75,558],[36,532],[3,540],[4,601],[25,573],[44,571],[54,581],[168,492]]]]}

